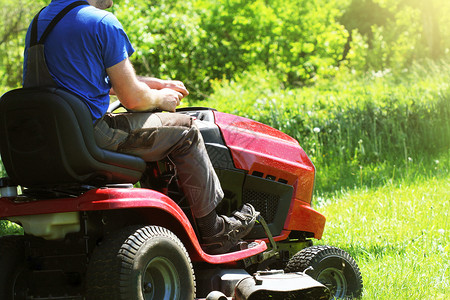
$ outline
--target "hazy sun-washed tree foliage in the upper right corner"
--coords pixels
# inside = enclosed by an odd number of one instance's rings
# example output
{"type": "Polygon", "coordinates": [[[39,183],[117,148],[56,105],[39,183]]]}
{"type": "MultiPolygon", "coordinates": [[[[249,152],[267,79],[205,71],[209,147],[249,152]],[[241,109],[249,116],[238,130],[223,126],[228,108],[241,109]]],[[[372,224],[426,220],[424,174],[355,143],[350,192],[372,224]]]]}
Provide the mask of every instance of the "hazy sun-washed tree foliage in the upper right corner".
{"type": "Polygon", "coordinates": [[[449,54],[450,3],[445,0],[351,0],[339,21],[359,70],[403,69],[449,54]]]}

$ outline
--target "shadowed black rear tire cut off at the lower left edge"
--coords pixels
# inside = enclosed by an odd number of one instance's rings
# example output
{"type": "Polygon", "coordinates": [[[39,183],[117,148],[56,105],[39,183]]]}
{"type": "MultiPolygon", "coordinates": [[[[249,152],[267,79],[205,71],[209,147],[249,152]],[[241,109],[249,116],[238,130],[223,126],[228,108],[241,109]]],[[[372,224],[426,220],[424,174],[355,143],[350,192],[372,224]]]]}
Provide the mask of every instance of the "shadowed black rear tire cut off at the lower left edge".
{"type": "Polygon", "coordinates": [[[0,299],[26,298],[25,237],[21,235],[0,238],[0,299]]]}

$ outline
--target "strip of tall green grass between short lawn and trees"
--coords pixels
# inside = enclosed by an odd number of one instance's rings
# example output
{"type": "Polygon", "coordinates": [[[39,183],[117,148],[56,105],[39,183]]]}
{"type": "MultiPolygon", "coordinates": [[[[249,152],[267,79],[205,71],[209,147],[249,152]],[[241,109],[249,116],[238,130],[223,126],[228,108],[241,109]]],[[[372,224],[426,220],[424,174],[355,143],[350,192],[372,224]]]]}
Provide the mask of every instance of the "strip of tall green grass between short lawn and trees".
{"type": "Polygon", "coordinates": [[[207,105],[296,138],[316,164],[318,190],[330,192],[383,185],[411,162],[433,169],[450,148],[449,83],[446,62],[400,74],[346,72],[294,90],[256,70],[216,82],[207,105]]]}

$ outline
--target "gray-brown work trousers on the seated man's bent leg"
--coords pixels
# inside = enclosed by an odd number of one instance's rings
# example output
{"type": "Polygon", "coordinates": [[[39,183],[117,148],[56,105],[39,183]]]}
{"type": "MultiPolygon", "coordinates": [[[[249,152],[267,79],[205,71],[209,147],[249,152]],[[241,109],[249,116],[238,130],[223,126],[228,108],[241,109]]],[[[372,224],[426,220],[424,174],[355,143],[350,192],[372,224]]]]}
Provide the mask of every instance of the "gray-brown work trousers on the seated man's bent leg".
{"type": "Polygon", "coordinates": [[[223,198],[203,138],[191,117],[173,113],[107,113],[94,126],[99,147],[139,156],[147,162],[169,157],[196,218],[223,198]]]}

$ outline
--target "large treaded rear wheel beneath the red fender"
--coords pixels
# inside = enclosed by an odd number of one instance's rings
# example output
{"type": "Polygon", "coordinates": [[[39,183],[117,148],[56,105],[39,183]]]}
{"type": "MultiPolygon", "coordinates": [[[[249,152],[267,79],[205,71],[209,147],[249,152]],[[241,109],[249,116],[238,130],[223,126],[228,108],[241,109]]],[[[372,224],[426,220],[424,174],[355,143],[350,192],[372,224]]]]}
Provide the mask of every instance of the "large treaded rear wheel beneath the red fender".
{"type": "Polygon", "coordinates": [[[169,230],[127,227],[94,249],[87,270],[90,300],[195,298],[189,254],[169,230]]]}

